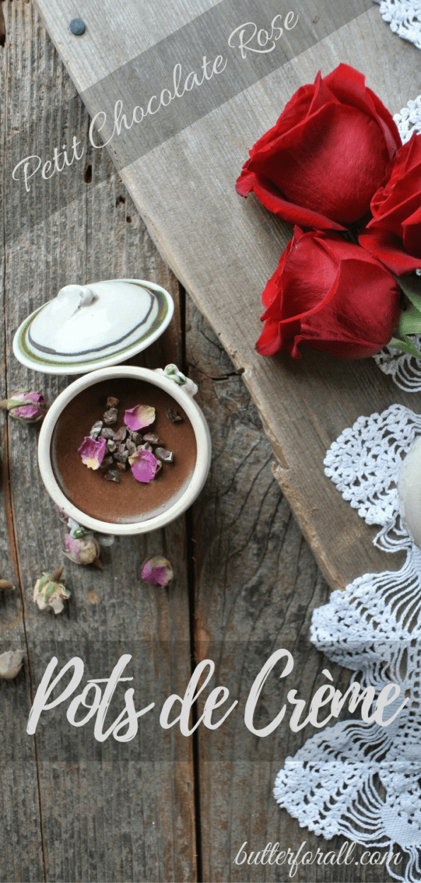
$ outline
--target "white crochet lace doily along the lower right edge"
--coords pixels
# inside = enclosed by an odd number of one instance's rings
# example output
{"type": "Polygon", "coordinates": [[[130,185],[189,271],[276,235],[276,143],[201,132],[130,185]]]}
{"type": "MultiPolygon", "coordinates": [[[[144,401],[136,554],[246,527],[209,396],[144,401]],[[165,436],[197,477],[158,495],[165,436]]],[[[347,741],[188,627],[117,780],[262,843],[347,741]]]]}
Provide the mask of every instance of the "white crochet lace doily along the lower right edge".
{"type": "Polygon", "coordinates": [[[357,673],[352,680],[376,693],[397,683],[398,706],[410,702],[386,728],[360,715],[324,728],[286,759],[274,787],[277,802],[327,840],[342,834],[389,856],[400,851],[402,864],[383,866],[406,883],[421,880],[421,551],[402,525],[396,479],[419,435],[421,415],[393,404],[357,419],[327,451],[327,476],[368,525],[379,525],[374,543],[405,550],[406,561],[358,577],[312,615],[313,644],[357,673]]]}

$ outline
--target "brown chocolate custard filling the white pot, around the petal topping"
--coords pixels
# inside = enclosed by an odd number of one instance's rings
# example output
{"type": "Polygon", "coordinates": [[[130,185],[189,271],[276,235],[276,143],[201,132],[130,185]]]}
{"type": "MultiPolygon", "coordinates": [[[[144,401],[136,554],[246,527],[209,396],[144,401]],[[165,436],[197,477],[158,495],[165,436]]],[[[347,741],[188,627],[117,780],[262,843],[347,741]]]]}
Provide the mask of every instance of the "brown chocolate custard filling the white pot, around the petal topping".
{"type": "Polygon", "coordinates": [[[163,389],[131,377],[111,378],[84,389],[62,411],[51,439],[51,463],[64,495],[86,515],[114,524],[145,521],[173,506],[192,479],[196,457],[196,436],[183,408],[163,389]],[[139,429],[139,434],[158,435],[162,447],[173,452],[174,462],[162,463],[149,484],[137,481],[129,465],[126,472],[120,472],[117,483],[106,481],[101,469],[88,469],[82,463],[78,448],[94,423],[102,419],[109,396],[118,399],[117,422],[110,427],[114,432],[124,426],[127,409],[137,404],[155,409],[154,423],[139,429]],[[169,408],[183,419],[172,423],[167,417],[169,408]]]}

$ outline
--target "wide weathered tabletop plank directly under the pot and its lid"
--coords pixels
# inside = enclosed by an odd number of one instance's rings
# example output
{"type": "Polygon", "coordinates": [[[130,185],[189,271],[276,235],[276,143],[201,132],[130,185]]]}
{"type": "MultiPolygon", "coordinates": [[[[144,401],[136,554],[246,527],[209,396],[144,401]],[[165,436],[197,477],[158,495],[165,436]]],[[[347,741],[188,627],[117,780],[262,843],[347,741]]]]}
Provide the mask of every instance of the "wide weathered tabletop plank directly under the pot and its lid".
{"type": "MultiPolygon", "coordinates": [[[[27,133],[35,129],[35,121],[39,143],[47,152],[51,145],[63,144],[70,132],[86,147],[88,117],[34,6],[9,2],[2,7],[9,59],[4,365],[9,391],[19,386],[42,389],[50,403],[66,379],[26,371],[12,355],[14,330],[27,313],[64,283],[145,275],[169,288],[177,304],[176,321],[165,339],[143,357],[154,367],[182,356],[179,288],[105,154],[86,155],[86,180],[91,183],[69,170],[44,182],[41,195],[29,192],[27,200],[16,200],[11,163],[16,152],[27,151],[27,133]]],[[[122,653],[132,653],[129,674],[136,706],[155,701],[159,710],[160,701],[171,692],[184,692],[190,677],[184,519],[146,537],[117,540],[103,553],[102,573],[69,562],[63,555],[63,525],[41,484],[37,436],[36,426],[9,420],[13,531],[34,686],[53,655],[60,665],[79,655],[86,676],[107,677],[122,653]],[[165,553],[173,562],[177,578],[169,590],[155,592],[141,584],[141,563],[150,553],[165,553]],[[41,615],[32,600],[34,580],[41,570],[61,563],[71,600],[62,615],[41,615]]],[[[12,605],[13,599],[7,603],[12,605]]],[[[19,617],[15,630],[20,634],[20,613],[19,617]]],[[[22,682],[26,683],[26,671],[22,682]]],[[[25,734],[30,702],[22,701],[19,683],[6,687],[8,714],[14,713],[12,723],[8,717],[11,738],[15,752],[23,746],[26,761],[34,745],[25,734]]],[[[191,743],[175,730],[165,733],[158,713],[142,723],[132,743],[112,741],[95,743],[89,725],[72,730],[62,706],[46,715],[37,729],[46,879],[194,880],[191,743]]],[[[9,797],[7,804],[13,811],[7,823],[15,825],[7,844],[14,864],[6,865],[4,879],[35,881],[43,879],[41,866],[34,862],[26,869],[31,857],[41,852],[41,834],[39,829],[36,834],[36,813],[29,806],[32,780],[24,769],[20,764],[7,774],[17,796],[12,804],[9,797]],[[26,788],[25,800],[20,800],[26,788]]]]}

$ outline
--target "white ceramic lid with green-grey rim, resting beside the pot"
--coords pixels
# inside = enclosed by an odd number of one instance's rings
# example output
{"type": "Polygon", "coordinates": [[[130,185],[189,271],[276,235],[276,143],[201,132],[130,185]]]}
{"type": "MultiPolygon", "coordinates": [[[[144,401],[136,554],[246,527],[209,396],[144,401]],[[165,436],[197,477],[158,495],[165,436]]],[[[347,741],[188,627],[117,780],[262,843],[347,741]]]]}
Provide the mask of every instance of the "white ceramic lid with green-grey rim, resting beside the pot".
{"type": "Polygon", "coordinates": [[[84,374],[145,350],[173,312],[168,291],[144,280],[65,285],[22,322],[13,351],[44,374],[84,374]]]}

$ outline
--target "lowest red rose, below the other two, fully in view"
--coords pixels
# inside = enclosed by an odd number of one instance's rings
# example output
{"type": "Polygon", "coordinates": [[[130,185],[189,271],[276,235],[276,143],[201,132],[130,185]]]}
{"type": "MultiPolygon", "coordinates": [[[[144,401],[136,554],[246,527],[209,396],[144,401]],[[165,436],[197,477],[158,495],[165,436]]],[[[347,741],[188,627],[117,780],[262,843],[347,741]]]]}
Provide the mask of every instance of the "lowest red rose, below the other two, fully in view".
{"type": "Polygon", "coordinates": [[[287,346],[365,358],[392,337],[399,289],[378,260],[330,231],[298,227],[262,294],[265,328],[256,344],[263,356],[287,346]]]}

